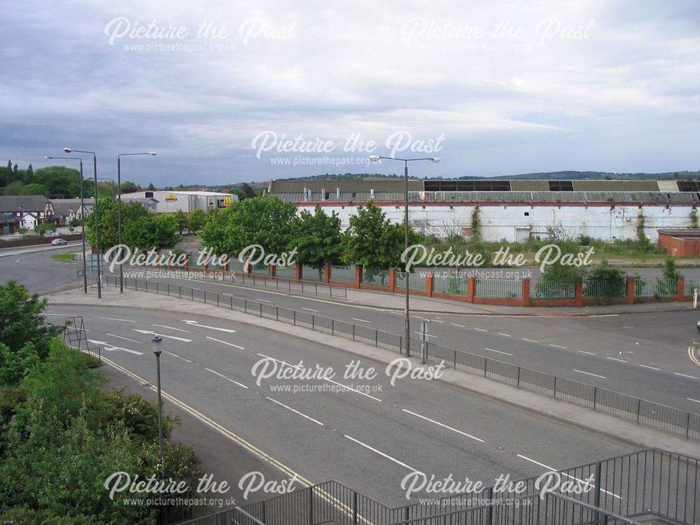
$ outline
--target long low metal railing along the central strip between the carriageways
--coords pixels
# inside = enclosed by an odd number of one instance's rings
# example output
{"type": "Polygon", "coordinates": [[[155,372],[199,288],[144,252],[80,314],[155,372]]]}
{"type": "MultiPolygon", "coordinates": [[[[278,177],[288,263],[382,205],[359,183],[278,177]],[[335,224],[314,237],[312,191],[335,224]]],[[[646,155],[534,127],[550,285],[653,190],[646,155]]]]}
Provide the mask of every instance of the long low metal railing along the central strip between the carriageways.
{"type": "MultiPolygon", "coordinates": [[[[118,286],[119,279],[105,276],[105,284],[118,286]]],[[[125,288],[155,292],[162,295],[181,297],[190,301],[216,304],[217,307],[236,309],[246,314],[283,321],[293,325],[302,325],[319,332],[346,337],[353,341],[374,344],[374,346],[405,353],[405,342],[402,335],[360,326],[347,321],[339,321],[324,316],[311,314],[307,311],[278,307],[274,304],[262,303],[243,297],[232,297],[218,292],[208,292],[187,286],[175,286],[169,283],[148,283],[137,279],[125,279],[125,288]]],[[[411,339],[409,355],[419,355],[421,342],[411,339]]],[[[550,395],[553,398],[571,402],[575,405],[604,412],[613,416],[629,419],[638,424],[652,426],[671,433],[684,436],[686,439],[700,439],[700,414],[687,412],[678,408],[661,405],[654,401],[636,398],[633,395],[593,386],[573,379],[557,377],[538,370],[505,363],[493,358],[479,356],[464,350],[426,343],[426,360],[442,361],[444,365],[455,370],[463,370],[479,374],[486,379],[509,384],[522,390],[550,395]]]]}

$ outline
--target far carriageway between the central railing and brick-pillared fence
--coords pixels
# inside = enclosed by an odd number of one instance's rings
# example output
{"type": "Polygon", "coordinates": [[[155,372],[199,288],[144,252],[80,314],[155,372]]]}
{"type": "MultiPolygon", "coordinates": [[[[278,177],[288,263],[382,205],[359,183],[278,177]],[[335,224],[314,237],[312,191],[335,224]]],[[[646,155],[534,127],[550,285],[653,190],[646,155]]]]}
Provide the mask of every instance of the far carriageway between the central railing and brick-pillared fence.
{"type": "MultiPolygon", "coordinates": [[[[45,253],[22,255],[16,260],[0,258],[0,271],[6,279],[31,284],[32,290],[40,293],[76,286],[77,268],[45,253]]],[[[149,282],[192,286],[200,295],[204,291],[235,295],[389,332],[401,333],[403,328],[400,311],[230,282],[165,277],[149,282]]],[[[371,300],[368,293],[367,302],[371,300]]],[[[699,412],[700,366],[688,355],[689,346],[700,341],[694,328],[696,316],[693,311],[678,311],[576,318],[450,314],[428,318],[433,321],[430,342],[699,412]]],[[[414,316],[416,330],[421,318],[414,316]]]]}

